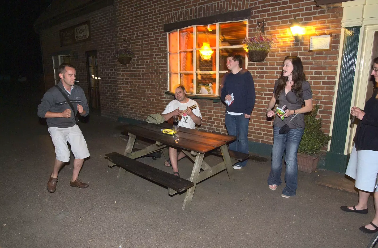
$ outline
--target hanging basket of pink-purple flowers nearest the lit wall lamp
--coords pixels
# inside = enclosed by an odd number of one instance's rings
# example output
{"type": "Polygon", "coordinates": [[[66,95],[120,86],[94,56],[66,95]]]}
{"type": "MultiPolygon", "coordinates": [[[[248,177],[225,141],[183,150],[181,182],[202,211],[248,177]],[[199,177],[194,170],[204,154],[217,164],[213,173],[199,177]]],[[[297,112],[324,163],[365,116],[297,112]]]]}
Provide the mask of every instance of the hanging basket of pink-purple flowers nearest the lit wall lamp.
{"type": "Polygon", "coordinates": [[[245,38],[243,40],[244,50],[248,52],[248,59],[252,62],[264,61],[275,42],[272,36],[262,34],[245,38]]]}

